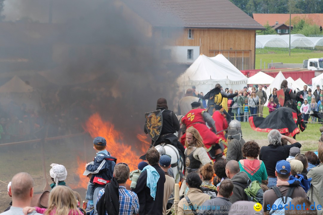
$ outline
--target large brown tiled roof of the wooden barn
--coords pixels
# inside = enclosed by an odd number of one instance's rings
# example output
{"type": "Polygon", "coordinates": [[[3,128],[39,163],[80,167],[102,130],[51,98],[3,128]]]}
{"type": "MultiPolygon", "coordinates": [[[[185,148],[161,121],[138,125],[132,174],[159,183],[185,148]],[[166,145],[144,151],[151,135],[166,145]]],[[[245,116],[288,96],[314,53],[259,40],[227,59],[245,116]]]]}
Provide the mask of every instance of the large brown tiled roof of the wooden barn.
{"type": "Polygon", "coordinates": [[[176,16],[182,22],[181,26],[186,28],[264,29],[229,0],[124,1],[154,26],[174,24],[170,17],[176,16]]]}

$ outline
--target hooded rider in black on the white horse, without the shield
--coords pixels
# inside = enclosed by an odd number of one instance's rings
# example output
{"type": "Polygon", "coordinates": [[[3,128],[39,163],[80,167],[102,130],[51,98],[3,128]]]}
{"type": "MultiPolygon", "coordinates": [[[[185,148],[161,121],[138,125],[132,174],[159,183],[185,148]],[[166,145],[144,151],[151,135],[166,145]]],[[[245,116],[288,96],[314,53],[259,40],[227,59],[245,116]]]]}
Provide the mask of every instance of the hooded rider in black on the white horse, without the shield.
{"type": "MultiPolygon", "coordinates": [[[[180,123],[177,119],[176,114],[168,110],[167,101],[163,97],[157,100],[156,110],[161,110],[162,128],[160,131],[159,138],[156,141],[152,140],[152,145],[156,146],[165,142],[169,143],[173,145],[178,150],[180,155],[183,157],[185,149],[174,134],[180,130],[180,123]]],[[[144,132],[148,134],[146,126],[144,126],[144,132]]]]}

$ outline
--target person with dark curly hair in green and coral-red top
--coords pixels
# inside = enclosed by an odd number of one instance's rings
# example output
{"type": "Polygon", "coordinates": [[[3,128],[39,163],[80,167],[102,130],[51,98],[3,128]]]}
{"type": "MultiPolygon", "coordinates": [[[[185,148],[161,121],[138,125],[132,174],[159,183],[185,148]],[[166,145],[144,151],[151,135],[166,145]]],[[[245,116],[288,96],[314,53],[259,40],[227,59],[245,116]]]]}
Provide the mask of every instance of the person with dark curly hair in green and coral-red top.
{"type": "Polygon", "coordinates": [[[242,153],[246,159],[239,161],[240,171],[247,173],[251,181],[267,180],[267,171],[263,161],[258,160],[260,147],[258,143],[249,141],[242,146],[242,153]]]}

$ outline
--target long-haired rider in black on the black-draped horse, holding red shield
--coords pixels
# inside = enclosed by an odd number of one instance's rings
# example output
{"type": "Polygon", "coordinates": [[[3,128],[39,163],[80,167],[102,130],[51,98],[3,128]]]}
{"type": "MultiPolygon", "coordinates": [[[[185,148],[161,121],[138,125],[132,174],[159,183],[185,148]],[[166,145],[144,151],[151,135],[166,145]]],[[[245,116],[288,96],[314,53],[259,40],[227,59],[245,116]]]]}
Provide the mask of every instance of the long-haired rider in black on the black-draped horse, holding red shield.
{"type": "Polygon", "coordinates": [[[284,90],[285,100],[284,107],[289,107],[297,113],[297,124],[299,125],[300,130],[303,132],[306,128],[304,120],[302,119],[302,114],[297,108],[296,100],[301,99],[301,91],[294,93],[287,86],[288,82],[286,80],[282,81],[280,88],[284,90]]]}

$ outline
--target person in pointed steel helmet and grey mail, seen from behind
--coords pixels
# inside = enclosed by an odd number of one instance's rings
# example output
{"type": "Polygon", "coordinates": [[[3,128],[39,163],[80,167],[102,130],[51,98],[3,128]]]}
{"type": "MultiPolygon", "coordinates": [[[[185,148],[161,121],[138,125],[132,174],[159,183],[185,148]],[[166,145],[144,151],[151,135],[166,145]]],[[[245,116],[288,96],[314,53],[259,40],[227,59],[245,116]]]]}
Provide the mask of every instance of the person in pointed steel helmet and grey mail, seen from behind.
{"type": "Polygon", "coordinates": [[[244,159],[242,146],[245,140],[242,138],[241,123],[238,120],[232,120],[228,128],[228,150],[226,152],[226,161],[239,161],[244,159]]]}

